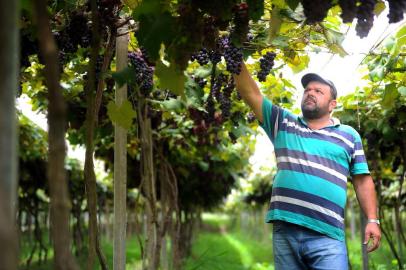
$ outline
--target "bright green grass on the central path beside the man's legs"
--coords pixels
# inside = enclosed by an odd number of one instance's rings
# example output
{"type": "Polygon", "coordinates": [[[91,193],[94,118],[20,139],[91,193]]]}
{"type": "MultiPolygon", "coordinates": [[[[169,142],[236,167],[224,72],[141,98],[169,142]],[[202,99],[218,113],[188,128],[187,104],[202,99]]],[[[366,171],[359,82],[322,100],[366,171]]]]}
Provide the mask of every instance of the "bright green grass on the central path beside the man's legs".
{"type": "Polygon", "coordinates": [[[186,270],[271,270],[271,238],[255,239],[251,233],[230,228],[225,215],[204,215],[204,224],[212,227],[200,232],[193,243],[186,270]],[[217,228],[217,230],[215,230],[217,228]]]}

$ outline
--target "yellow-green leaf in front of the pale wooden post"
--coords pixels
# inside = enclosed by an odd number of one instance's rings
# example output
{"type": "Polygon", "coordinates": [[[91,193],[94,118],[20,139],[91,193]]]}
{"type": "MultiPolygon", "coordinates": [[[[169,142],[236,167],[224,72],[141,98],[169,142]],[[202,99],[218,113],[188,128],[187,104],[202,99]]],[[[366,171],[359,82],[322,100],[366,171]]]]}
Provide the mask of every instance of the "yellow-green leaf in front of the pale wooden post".
{"type": "Polygon", "coordinates": [[[124,101],[121,106],[117,106],[115,102],[110,101],[107,105],[107,115],[114,124],[130,129],[137,113],[128,100],[124,101]]]}

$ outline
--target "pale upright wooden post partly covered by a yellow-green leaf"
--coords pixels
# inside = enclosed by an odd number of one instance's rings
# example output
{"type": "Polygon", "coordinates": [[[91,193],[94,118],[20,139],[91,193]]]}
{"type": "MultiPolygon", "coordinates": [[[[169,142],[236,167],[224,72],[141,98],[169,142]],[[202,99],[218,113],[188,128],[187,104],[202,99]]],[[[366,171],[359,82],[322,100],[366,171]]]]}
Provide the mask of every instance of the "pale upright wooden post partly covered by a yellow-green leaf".
{"type": "MultiPolygon", "coordinates": [[[[118,29],[116,43],[117,71],[127,66],[128,29],[123,26],[118,29]]],[[[127,85],[116,88],[116,104],[120,106],[127,100],[127,85]]],[[[114,127],[114,252],[113,269],[125,269],[125,243],[127,223],[127,130],[115,125],[114,127]]]]}

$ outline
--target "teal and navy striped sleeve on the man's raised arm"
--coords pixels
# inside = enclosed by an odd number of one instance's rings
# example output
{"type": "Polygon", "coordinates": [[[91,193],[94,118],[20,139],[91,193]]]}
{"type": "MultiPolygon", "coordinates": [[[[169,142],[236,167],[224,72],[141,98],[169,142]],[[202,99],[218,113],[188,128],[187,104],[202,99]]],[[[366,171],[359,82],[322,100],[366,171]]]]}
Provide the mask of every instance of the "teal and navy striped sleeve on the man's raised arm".
{"type": "Polygon", "coordinates": [[[265,130],[269,139],[274,142],[276,135],[278,133],[279,123],[283,118],[283,110],[277,106],[273,105],[272,102],[263,97],[262,99],[262,123],[260,126],[265,130]]]}

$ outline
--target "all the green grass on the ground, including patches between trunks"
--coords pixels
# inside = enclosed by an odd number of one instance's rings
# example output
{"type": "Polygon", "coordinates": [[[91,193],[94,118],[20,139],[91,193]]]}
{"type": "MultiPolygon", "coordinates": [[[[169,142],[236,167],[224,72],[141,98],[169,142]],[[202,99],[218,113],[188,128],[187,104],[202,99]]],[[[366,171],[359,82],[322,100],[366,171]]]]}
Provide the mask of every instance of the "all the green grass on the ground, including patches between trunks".
{"type": "MultiPolygon", "coordinates": [[[[186,270],[273,270],[271,235],[261,236],[258,230],[242,231],[232,227],[233,222],[227,215],[204,214],[204,229],[196,232],[192,253],[185,260],[186,270]]],[[[271,226],[271,225],[270,225],[271,226]]],[[[271,230],[270,230],[271,231],[271,230]]],[[[48,242],[47,238],[45,237],[48,242]]],[[[24,239],[21,246],[20,269],[26,269],[24,262],[31,248],[30,241],[24,239]]],[[[359,238],[348,241],[348,253],[353,270],[362,269],[361,244],[359,238]]],[[[109,269],[113,269],[113,243],[104,239],[103,251],[109,269]]],[[[127,269],[140,269],[141,252],[136,237],[127,239],[127,269]]],[[[406,254],[404,256],[406,258],[406,254]]],[[[29,269],[52,269],[52,248],[49,248],[48,261],[38,265],[34,257],[29,269]]],[[[371,270],[398,269],[388,244],[382,240],[381,247],[369,255],[371,270]]],[[[79,258],[82,269],[86,266],[86,254],[79,258]]],[[[94,269],[100,269],[96,261],[94,269]]]]}

